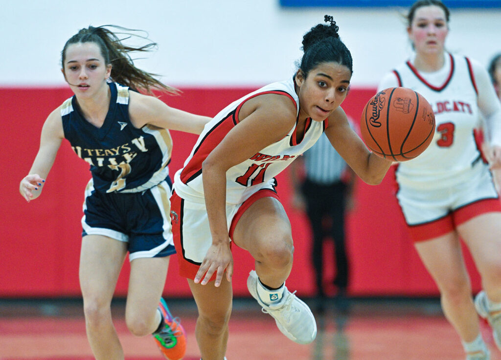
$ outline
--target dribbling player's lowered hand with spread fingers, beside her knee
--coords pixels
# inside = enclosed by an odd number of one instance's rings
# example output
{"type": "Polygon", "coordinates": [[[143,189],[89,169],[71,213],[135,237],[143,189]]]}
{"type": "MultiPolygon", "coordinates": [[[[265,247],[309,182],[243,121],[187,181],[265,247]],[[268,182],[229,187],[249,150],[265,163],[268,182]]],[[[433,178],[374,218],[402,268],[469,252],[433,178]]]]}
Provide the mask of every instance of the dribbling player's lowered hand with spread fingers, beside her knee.
{"type": "Polygon", "coordinates": [[[212,244],[209,247],[207,253],[205,254],[205,258],[195,275],[194,281],[195,283],[198,283],[203,277],[200,283],[205,285],[209,282],[214,272],[217,271],[214,286],[219,286],[225,269],[226,279],[231,281],[231,276],[233,275],[233,256],[231,255],[231,250],[229,248],[229,241],[221,242],[216,245],[212,244]],[[204,274],[205,276],[203,276],[204,274]]]}

